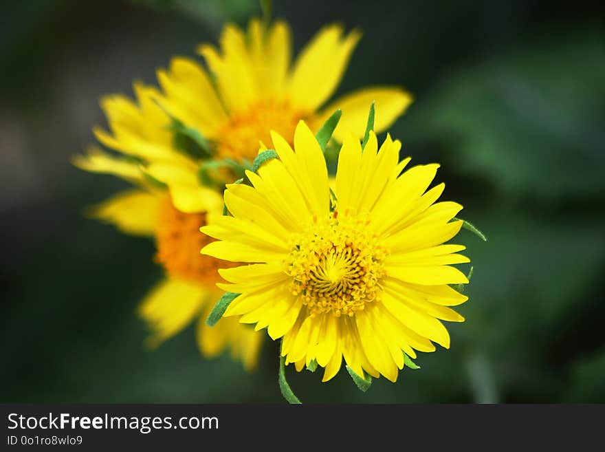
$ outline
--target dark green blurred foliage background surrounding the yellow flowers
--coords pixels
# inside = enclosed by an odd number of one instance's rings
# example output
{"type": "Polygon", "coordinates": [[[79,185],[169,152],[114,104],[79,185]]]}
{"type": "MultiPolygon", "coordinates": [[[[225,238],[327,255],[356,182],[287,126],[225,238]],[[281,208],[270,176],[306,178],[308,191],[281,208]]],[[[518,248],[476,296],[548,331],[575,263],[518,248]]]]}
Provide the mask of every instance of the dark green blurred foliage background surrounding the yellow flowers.
{"type": "MultiPolygon", "coordinates": [[[[364,39],[339,92],[395,83],[392,127],[441,162],[474,277],[449,351],[362,394],[289,371],[303,402],[605,402],[605,3],[280,1],[299,49],[321,25],[364,39]]],[[[78,171],[98,98],[155,83],[174,54],[245,24],[254,0],[21,1],[0,29],[1,402],[283,402],[277,345],[245,374],[203,360],[188,328],[156,352],[137,302],[161,275],[153,243],[83,217],[126,186],[78,171]]]]}

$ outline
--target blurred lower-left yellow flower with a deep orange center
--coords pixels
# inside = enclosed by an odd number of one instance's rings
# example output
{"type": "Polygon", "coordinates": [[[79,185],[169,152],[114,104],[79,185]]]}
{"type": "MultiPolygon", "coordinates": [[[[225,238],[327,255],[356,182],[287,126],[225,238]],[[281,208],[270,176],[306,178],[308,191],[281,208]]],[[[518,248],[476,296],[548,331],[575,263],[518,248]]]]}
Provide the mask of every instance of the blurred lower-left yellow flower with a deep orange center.
{"type": "MultiPolygon", "coordinates": [[[[93,155],[99,158],[102,154],[93,155]]],[[[85,160],[80,158],[76,163],[85,164],[85,160]]],[[[229,348],[246,369],[253,369],[259,358],[261,334],[235,318],[222,319],[212,328],[206,325],[208,313],[222,294],[216,287],[221,281],[217,268],[230,265],[213,257],[200,259],[199,248],[212,241],[199,232],[207,214],[177,210],[170,196],[146,183],[140,171],[130,175],[140,189],[118,193],[91,209],[89,215],[114,224],[124,233],[155,237],[155,261],[166,270],[166,278],[139,306],[139,314],[153,332],[148,346],[157,347],[197,319],[197,343],[204,356],[212,358],[229,348]]]]}

